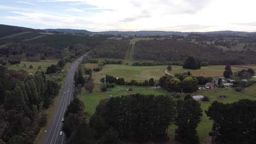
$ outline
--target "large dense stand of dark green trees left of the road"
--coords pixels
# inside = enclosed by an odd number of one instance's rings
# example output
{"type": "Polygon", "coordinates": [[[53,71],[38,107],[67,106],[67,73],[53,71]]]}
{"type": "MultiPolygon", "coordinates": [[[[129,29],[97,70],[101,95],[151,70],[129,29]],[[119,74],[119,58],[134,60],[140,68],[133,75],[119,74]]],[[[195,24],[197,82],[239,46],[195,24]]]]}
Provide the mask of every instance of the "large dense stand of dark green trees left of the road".
{"type": "Polygon", "coordinates": [[[0,141],[33,143],[41,127],[47,122],[47,109],[59,93],[54,77],[37,72],[7,70],[0,67],[0,141]]]}

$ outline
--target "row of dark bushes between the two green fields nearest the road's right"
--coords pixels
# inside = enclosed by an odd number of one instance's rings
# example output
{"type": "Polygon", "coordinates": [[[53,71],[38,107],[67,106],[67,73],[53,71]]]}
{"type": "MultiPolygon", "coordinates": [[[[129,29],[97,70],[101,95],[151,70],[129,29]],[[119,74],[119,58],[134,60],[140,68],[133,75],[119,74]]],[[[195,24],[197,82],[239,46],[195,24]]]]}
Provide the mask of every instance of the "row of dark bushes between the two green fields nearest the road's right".
{"type": "Polygon", "coordinates": [[[149,80],[145,81],[125,81],[122,77],[114,77],[110,75],[106,75],[106,77],[103,77],[101,79],[101,82],[104,83],[115,83],[116,85],[127,85],[127,86],[155,86],[155,81],[153,78],[150,78],[149,80]]]}

